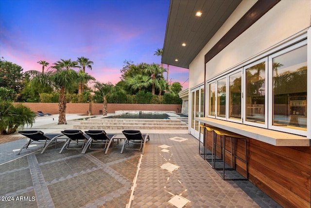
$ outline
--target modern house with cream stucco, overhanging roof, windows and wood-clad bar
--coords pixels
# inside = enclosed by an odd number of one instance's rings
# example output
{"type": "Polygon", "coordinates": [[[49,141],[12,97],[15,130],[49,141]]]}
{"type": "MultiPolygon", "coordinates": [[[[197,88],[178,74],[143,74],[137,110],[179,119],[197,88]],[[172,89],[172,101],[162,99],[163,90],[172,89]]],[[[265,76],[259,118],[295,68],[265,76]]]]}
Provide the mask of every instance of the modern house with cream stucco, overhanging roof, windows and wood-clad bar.
{"type": "Polygon", "coordinates": [[[189,68],[190,134],[246,136],[236,170],[284,207],[311,207],[310,0],[171,0],[162,63],[189,68]]]}

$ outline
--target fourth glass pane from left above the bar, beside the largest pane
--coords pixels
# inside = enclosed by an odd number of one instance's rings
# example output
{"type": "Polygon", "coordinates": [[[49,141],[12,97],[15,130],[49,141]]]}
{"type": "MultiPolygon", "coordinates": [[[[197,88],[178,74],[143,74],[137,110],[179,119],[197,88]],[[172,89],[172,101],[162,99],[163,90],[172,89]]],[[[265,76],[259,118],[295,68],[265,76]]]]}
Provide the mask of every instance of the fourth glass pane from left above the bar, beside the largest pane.
{"type": "Polygon", "coordinates": [[[246,69],[246,121],[265,123],[265,62],[246,69]]]}

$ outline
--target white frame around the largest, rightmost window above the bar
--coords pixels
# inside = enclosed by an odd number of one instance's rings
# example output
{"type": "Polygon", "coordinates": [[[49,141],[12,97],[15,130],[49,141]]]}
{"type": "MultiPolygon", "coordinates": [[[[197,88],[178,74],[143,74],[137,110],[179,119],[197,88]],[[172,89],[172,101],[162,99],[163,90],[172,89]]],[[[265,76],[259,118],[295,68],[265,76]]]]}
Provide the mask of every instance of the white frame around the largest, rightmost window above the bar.
{"type": "MultiPolygon", "coordinates": [[[[286,47],[283,50],[278,51],[278,52],[276,52],[276,53],[274,53],[268,57],[268,62],[269,62],[269,66],[268,66],[269,67],[269,75],[268,75],[269,76],[269,80],[268,80],[269,81],[269,83],[268,83],[269,103],[268,103],[268,105],[271,106],[271,110],[268,112],[268,124],[269,124],[268,129],[307,136],[308,129],[310,128],[310,125],[308,126],[308,117],[310,120],[310,115],[308,114],[308,111],[307,111],[307,115],[306,115],[307,116],[307,131],[273,125],[273,114],[274,114],[274,111],[273,111],[273,101],[274,101],[274,97],[273,97],[273,58],[281,56],[281,55],[286,54],[286,53],[289,53],[291,51],[294,51],[295,49],[298,49],[298,48],[305,46],[305,45],[307,45],[307,58],[308,58],[308,44],[307,43],[308,43],[307,39],[302,40],[302,41],[300,41],[294,45],[291,45],[289,47],[286,47]]],[[[308,65],[309,65],[308,61],[309,60],[307,59],[307,76],[308,76],[308,74],[310,74],[310,69],[308,67],[308,65]]],[[[308,79],[308,77],[307,77],[307,79],[308,79]]],[[[308,87],[307,87],[307,90],[308,90],[308,87]]],[[[308,93],[308,91],[307,91],[307,100],[308,100],[308,94],[310,94],[310,92],[308,93]]],[[[309,106],[310,106],[310,103],[309,103],[309,106]]],[[[308,109],[308,105],[307,105],[307,109],[308,109]]]]}

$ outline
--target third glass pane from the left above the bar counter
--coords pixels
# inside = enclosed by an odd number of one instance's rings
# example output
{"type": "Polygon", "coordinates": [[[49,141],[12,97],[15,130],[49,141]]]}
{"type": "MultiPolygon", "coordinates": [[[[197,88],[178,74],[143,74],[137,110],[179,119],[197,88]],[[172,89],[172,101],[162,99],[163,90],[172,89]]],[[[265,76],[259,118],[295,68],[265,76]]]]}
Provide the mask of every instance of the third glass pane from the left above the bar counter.
{"type": "Polygon", "coordinates": [[[242,118],[242,72],[229,75],[229,118],[241,120],[242,118]]]}

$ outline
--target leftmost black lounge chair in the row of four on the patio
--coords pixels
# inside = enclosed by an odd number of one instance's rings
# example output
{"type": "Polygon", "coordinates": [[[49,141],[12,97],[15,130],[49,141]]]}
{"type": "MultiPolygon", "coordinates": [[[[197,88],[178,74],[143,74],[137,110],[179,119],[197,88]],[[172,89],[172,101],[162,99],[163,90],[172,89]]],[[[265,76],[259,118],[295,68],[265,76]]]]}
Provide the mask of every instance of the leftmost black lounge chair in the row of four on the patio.
{"type": "Polygon", "coordinates": [[[22,146],[20,151],[17,153],[19,154],[23,149],[27,149],[30,143],[32,142],[40,142],[35,144],[43,144],[42,151],[40,152],[43,154],[45,149],[53,142],[55,141],[55,148],[57,144],[57,137],[62,136],[61,133],[43,133],[41,131],[19,131],[18,133],[28,137],[30,140],[22,146]],[[48,142],[49,141],[49,142],[48,142]]]}

